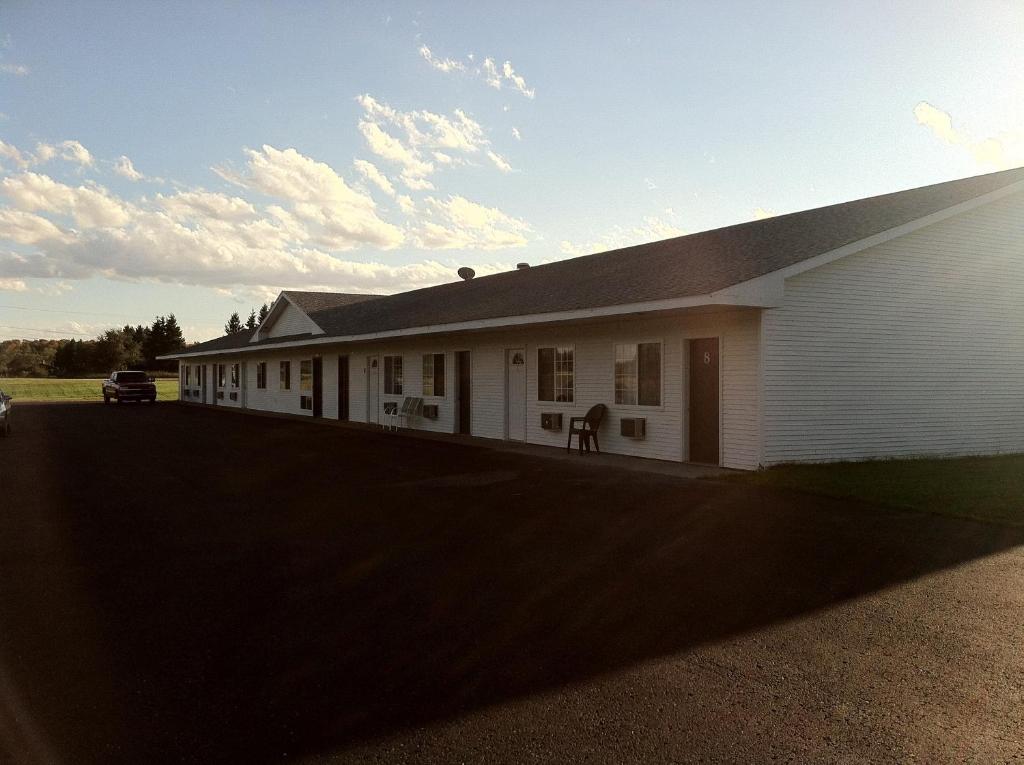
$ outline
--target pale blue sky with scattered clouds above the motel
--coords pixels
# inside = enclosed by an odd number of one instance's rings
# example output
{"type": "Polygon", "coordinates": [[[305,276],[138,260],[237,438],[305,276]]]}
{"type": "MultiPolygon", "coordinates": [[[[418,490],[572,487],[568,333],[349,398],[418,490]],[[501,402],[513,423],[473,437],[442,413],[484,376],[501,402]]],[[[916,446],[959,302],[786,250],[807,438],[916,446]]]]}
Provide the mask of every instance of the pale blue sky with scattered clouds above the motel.
{"type": "Polygon", "coordinates": [[[0,141],[0,339],[203,340],[1024,164],[1024,4],[11,0],[0,141]]]}

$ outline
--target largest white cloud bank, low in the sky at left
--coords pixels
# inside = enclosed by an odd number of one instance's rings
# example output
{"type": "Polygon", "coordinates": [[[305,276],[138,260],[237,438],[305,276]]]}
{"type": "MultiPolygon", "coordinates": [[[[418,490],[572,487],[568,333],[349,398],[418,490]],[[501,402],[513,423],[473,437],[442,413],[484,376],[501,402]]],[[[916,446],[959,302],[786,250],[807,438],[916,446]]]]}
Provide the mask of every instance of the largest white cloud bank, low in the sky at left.
{"type": "MultiPolygon", "coordinates": [[[[426,143],[434,135],[429,124],[418,124],[426,143]]],[[[19,156],[12,148],[6,158],[19,156]]],[[[393,265],[379,255],[345,260],[337,253],[399,245],[496,250],[525,244],[530,230],[459,195],[420,204],[395,193],[391,213],[403,219],[396,225],[368,193],[294,148],[263,145],[245,157],[241,168],[214,168],[242,189],[238,196],[182,187],[129,202],[93,181],[73,186],[28,170],[0,172],[0,197],[9,205],[0,206],[0,241],[8,246],[0,249],[0,273],[47,280],[45,287],[58,292],[74,280],[99,277],[230,291],[386,293],[452,281],[453,266],[393,265]]]]}

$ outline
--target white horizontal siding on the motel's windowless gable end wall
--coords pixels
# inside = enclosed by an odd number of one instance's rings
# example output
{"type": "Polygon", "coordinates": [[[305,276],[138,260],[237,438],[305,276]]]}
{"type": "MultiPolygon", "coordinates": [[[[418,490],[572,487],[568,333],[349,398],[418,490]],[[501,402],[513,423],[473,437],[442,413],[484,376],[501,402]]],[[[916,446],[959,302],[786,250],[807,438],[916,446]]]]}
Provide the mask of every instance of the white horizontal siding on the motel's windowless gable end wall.
{"type": "Polygon", "coordinates": [[[788,279],[763,355],[766,464],[1024,452],[1024,195],[788,279]]]}

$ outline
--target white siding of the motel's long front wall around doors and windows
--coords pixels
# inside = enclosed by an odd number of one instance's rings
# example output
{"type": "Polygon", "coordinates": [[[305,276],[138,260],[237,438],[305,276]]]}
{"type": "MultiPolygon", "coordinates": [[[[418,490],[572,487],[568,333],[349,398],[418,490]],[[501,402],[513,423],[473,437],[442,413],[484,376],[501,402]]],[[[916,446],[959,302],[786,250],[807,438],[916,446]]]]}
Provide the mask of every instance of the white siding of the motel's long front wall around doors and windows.
{"type": "MultiPolygon", "coordinates": [[[[595,403],[608,407],[601,426],[601,450],[680,461],[684,452],[686,408],[686,342],[691,338],[720,337],[722,341],[722,460],[726,467],[755,468],[760,460],[758,365],[760,316],[757,309],[720,313],[699,313],[660,320],[624,320],[601,324],[563,325],[554,329],[529,328],[514,332],[494,332],[473,336],[439,335],[396,343],[365,343],[316,348],[324,358],[324,416],[338,416],[338,353],[349,355],[349,419],[367,422],[366,360],[381,360],[380,406],[401,405],[406,396],[423,396],[420,365],[425,354],[443,352],[446,373],[444,395],[430,403],[438,406],[436,420],[412,418],[410,427],[452,433],[456,427],[455,353],[469,350],[472,359],[472,432],[485,438],[505,437],[505,355],[508,348],[526,350],[526,440],[531,443],[565,448],[566,430],[550,432],[541,428],[541,414],[561,412],[567,427],[569,417],[582,417],[595,403]],[[614,347],[616,344],[659,339],[662,346],[660,406],[638,407],[614,403],[614,347]],[[536,362],[539,348],[571,348],[573,359],[573,400],[539,401],[536,362]],[[385,356],[416,359],[416,371],[403,376],[402,393],[384,392],[385,356]],[[618,434],[622,417],[645,417],[647,437],[643,440],[618,434]]],[[[308,354],[308,350],[305,351],[308,354]]],[[[303,350],[294,354],[266,352],[270,370],[281,360],[290,360],[298,371],[303,350]]],[[[308,355],[306,355],[308,358],[308,355]]],[[[254,410],[308,416],[300,409],[298,386],[291,391],[275,385],[261,390],[255,386],[255,364],[249,364],[253,384],[246,392],[246,406],[254,410]]],[[[222,401],[218,401],[218,405],[222,401]]]]}

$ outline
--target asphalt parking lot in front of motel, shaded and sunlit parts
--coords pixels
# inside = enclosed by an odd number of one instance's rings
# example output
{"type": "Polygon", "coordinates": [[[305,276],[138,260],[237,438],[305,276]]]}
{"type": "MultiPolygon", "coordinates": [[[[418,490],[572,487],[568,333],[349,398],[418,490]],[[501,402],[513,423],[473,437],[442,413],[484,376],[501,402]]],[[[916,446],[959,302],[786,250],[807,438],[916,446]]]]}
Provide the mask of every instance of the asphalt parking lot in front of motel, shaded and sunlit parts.
{"type": "Polygon", "coordinates": [[[1021,528],[180,403],[0,509],[0,761],[1024,757],[1021,528]]]}

